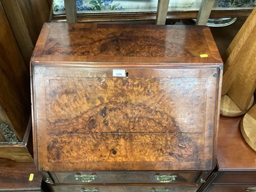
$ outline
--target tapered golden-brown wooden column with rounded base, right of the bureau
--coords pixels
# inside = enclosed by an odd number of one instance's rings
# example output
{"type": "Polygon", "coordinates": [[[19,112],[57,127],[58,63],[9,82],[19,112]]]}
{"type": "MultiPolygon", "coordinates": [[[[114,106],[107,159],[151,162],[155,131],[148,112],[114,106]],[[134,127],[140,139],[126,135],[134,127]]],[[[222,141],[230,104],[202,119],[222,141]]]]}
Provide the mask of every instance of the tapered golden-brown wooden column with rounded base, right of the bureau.
{"type": "Polygon", "coordinates": [[[243,115],[252,107],[256,88],[256,9],[227,49],[221,92],[221,115],[243,115]]]}

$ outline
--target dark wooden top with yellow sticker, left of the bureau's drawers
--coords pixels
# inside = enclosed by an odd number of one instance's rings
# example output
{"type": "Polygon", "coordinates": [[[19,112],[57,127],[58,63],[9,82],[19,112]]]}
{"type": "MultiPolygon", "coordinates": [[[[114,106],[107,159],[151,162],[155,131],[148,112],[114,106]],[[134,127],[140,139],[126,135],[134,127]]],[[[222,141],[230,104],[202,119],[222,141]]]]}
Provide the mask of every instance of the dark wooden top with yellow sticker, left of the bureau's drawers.
{"type": "Polygon", "coordinates": [[[0,191],[39,192],[42,191],[41,182],[42,176],[34,163],[0,158],[0,191]]]}

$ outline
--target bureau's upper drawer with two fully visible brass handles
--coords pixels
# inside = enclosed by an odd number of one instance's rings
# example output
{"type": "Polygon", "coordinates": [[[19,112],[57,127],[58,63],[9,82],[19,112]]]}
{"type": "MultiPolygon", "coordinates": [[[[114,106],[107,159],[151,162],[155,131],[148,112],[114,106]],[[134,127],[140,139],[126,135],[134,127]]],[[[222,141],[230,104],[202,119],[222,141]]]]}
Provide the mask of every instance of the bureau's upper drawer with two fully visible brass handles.
{"type": "Polygon", "coordinates": [[[55,176],[61,184],[195,184],[200,172],[54,172],[52,176],[55,176]]]}

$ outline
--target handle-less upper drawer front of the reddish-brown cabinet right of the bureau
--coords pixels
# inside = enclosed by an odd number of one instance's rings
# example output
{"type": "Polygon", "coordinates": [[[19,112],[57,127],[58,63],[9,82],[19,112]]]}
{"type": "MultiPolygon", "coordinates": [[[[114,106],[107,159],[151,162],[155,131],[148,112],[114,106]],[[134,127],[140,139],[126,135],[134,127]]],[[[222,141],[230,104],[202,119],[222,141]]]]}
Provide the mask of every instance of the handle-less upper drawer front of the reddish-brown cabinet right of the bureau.
{"type": "Polygon", "coordinates": [[[222,173],[214,184],[256,184],[256,173],[222,173]]]}

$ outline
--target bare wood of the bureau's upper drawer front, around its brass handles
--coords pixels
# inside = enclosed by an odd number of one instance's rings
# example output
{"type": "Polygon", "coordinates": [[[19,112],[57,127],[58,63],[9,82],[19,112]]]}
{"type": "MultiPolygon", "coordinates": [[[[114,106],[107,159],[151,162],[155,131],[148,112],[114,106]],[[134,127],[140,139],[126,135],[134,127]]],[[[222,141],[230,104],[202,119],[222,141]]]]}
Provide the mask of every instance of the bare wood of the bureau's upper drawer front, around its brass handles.
{"type": "Polygon", "coordinates": [[[175,180],[169,184],[188,184],[196,183],[202,172],[198,171],[168,171],[168,172],[54,172],[58,178],[55,184],[84,184],[77,180],[74,175],[97,175],[95,180],[89,184],[161,184],[161,181],[155,178],[155,175],[176,175],[175,180]]]}

